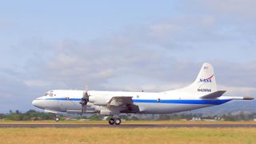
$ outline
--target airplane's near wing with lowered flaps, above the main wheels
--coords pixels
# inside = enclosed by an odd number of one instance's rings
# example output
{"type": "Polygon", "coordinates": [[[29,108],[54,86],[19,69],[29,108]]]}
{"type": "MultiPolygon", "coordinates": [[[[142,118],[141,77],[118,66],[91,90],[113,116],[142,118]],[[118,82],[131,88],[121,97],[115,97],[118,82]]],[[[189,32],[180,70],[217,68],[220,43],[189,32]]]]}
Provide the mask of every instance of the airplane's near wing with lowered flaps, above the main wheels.
{"type": "Polygon", "coordinates": [[[132,97],[113,97],[107,102],[108,108],[120,110],[122,113],[138,113],[138,106],[134,105],[132,97]]]}

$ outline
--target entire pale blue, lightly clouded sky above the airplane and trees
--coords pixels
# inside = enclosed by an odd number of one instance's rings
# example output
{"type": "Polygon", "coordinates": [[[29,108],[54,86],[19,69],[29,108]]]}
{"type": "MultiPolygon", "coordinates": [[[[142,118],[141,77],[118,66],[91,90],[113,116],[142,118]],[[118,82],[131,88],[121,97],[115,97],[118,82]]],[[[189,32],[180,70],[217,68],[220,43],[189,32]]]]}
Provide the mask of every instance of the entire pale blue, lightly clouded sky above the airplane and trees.
{"type": "Polygon", "coordinates": [[[163,91],[210,62],[226,94],[256,96],[256,1],[2,1],[0,112],[48,90],[163,91]]]}

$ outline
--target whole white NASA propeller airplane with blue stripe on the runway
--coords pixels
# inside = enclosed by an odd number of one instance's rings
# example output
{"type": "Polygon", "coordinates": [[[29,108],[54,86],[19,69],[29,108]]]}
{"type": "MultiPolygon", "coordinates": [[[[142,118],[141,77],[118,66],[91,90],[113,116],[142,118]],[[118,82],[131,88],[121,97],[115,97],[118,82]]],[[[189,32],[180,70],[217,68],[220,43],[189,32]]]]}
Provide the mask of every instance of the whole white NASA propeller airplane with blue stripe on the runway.
{"type": "Polygon", "coordinates": [[[35,99],[32,104],[45,112],[56,114],[96,113],[109,115],[110,125],[119,125],[118,114],[171,114],[216,106],[231,100],[253,100],[252,97],[222,96],[226,90],[218,90],[214,68],[204,63],[195,81],[185,88],[158,93],[96,91],[96,90],[50,90],[35,99]]]}

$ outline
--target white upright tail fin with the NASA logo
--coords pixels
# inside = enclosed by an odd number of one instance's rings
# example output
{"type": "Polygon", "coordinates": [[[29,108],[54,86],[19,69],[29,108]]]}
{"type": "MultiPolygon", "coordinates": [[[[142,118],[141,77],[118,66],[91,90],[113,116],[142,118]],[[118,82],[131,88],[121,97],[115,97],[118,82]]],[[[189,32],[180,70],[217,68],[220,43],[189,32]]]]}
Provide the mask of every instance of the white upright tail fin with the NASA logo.
{"type": "Polygon", "coordinates": [[[195,81],[190,86],[186,86],[178,91],[205,95],[217,90],[218,88],[215,80],[214,67],[209,63],[204,63],[195,81]]]}

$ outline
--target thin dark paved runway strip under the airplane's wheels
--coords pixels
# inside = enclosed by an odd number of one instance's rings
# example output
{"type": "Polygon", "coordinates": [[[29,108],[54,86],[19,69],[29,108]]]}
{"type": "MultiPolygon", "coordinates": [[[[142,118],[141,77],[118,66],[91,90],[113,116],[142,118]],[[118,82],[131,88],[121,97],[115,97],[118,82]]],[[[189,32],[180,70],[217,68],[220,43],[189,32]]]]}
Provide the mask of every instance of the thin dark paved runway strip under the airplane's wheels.
{"type": "Polygon", "coordinates": [[[0,124],[0,128],[14,127],[57,127],[57,128],[79,128],[79,127],[115,127],[115,128],[154,128],[154,127],[205,127],[205,128],[224,128],[224,127],[254,127],[256,124],[166,124],[166,125],[143,125],[143,124],[121,124],[119,126],[110,126],[108,124],[0,124]]]}

